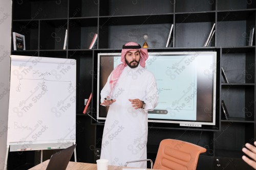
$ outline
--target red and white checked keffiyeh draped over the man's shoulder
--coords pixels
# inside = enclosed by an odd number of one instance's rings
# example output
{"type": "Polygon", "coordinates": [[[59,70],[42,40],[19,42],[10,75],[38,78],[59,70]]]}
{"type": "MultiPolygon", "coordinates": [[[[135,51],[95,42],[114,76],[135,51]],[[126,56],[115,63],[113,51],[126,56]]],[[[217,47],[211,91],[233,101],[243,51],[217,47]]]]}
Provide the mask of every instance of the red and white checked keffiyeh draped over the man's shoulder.
{"type": "MultiPolygon", "coordinates": [[[[128,42],[126,43],[124,46],[138,46],[139,44],[136,42],[128,42]]],[[[127,66],[126,62],[125,62],[125,55],[128,51],[131,50],[139,50],[140,51],[140,65],[145,68],[145,62],[148,58],[148,53],[147,53],[147,49],[146,48],[127,48],[125,47],[125,49],[122,49],[121,52],[121,62],[122,64],[119,64],[113,71],[110,77],[110,94],[112,94],[113,88],[116,85],[116,82],[118,81],[119,76],[121,75],[123,68],[125,66],[127,66]]]]}

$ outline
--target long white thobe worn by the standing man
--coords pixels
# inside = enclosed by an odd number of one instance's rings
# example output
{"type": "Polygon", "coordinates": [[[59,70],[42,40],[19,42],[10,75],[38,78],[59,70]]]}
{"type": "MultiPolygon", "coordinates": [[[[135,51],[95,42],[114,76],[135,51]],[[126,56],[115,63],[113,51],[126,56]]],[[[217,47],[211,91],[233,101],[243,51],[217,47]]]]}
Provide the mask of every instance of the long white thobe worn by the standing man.
{"type": "MultiPolygon", "coordinates": [[[[110,76],[101,91],[101,103],[109,95],[110,76]]],[[[146,159],[147,111],[158,104],[158,90],[154,75],[140,65],[124,67],[112,93],[102,136],[101,159],[109,165],[123,166],[127,161],[146,159]],[[145,109],[134,109],[129,99],[144,101],[145,109]]],[[[103,107],[103,106],[101,106],[103,107]]],[[[129,166],[146,168],[146,162],[129,166]]]]}

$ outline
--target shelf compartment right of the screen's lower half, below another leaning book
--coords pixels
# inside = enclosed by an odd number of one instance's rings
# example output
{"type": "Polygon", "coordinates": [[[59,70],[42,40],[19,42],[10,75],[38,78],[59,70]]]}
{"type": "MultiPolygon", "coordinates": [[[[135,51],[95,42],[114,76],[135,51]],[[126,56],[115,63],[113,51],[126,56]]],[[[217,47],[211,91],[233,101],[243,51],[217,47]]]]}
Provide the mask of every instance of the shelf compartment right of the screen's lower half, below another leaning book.
{"type": "Polygon", "coordinates": [[[230,117],[254,120],[254,86],[222,86],[221,99],[230,117]]]}

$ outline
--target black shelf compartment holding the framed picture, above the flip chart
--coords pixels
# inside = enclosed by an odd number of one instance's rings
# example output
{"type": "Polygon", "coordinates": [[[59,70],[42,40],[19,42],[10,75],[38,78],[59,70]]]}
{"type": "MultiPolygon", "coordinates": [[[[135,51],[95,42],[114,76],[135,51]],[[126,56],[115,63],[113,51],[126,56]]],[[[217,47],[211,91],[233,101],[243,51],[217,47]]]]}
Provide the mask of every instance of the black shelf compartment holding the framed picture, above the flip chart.
{"type": "MultiPolygon", "coordinates": [[[[26,50],[38,49],[38,30],[39,21],[13,21],[12,32],[19,33],[25,36],[26,50]]],[[[13,36],[12,36],[12,49],[13,49],[13,36]]]]}

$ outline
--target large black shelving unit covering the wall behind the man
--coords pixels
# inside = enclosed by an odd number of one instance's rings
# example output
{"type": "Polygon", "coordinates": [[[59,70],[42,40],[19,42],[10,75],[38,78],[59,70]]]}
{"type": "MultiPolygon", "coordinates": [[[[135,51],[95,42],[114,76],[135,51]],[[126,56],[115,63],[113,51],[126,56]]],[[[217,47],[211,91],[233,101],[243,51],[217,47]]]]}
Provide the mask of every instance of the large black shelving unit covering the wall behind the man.
{"type": "Polygon", "coordinates": [[[207,149],[200,155],[197,169],[252,169],[242,161],[241,150],[256,138],[255,33],[252,46],[248,45],[256,23],[255,1],[24,0],[13,1],[12,7],[12,32],[26,37],[26,51],[13,51],[12,47],[12,55],[77,60],[78,161],[95,163],[100,154],[97,150],[104,124],[82,114],[84,99],[93,92],[90,114],[96,116],[97,54],[121,52],[129,41],[143,44],[146,33],[149,52],[216,51],[218,78],[216,126],[202,130],[150,123],[148,158],[155,159],[162,139],[176,138],[207,149]],[[214,23],[215,35],[210,45],[203,47],[214,23]],[[165,47],[172,24],[172,42],[165,47]],[[68,45],[62,50],[66,29],[68,45]],[[97,48],[89,50],[94,34],[98,34],[97,48]],[[221,67],[229,83],[222,79],[221,67]],[[221,119],[221,100],[228,109],[228,120],[221,119]]]}

